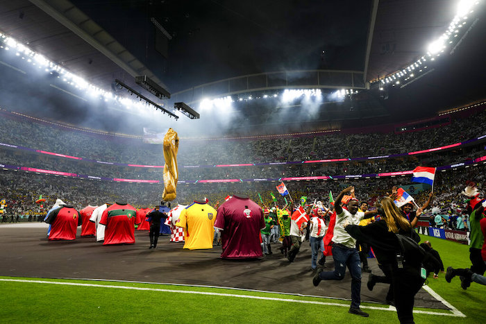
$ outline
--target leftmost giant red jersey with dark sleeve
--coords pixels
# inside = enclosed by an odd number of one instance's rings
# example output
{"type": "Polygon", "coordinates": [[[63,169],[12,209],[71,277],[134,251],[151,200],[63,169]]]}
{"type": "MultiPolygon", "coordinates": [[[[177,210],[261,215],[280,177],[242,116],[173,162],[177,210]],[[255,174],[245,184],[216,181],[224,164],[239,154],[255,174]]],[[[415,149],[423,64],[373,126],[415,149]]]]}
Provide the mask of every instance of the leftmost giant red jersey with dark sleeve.
{"type": "Polygon", "coordinates": [[[65,206],[53,210],[47,217],[46,223],[51,224],[49,240],[73,240],[76,239],[76,228],[81,225],[81,218],[72,206],[65,206]]]}

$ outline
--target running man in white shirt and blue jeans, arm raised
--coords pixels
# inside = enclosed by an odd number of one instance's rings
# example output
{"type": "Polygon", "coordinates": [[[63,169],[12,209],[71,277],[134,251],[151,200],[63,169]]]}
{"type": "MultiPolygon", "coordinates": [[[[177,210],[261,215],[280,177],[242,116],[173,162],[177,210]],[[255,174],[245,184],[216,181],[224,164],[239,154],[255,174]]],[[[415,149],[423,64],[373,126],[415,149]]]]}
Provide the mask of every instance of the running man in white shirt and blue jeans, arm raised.
{"type": "MultiPolygon", "coordinates": [[[[361,262],[356,240],[344,230],[349,224],[358,225],[364,219],[364,212],[358,212],[358,199],[350,198],[347,209],[341,207],[341,200],[344,194],[354,190],[354,187],[347,187],[340,192],[334,203],[336,211],[336,223],[333,236],[333,258],[334,271],[317,271],[312,283],[317,286],[321,280],[343,280],[346,273],[346,265],[351,274],[351,307],[350,314],[368,317],[369,314],[360,309],[361,304],[361,262]]],[[[369,215],[371,217],[371,215],[369,215]]]]}

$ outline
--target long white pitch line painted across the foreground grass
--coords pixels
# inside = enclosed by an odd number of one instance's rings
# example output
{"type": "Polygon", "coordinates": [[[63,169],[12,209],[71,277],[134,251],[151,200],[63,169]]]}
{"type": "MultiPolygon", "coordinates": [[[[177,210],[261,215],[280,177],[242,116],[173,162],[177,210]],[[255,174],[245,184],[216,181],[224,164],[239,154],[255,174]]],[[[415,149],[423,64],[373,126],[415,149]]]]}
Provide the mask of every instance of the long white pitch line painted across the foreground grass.
{"type": "MultiPolygon", "coordinates": [[[[313,305],[325,305],[325,306],[339,306],[339,307],[349,307],[347,304],[340,304],[337,302],[318,302],[315,300],[297,300],[297,299],[286,299],[286,298],[274,298],[274,297],[262,297],[262,296],[251,296],[251,295],[237,295],[234,293],[211,293],[208,291],[190,291],[190,290],[174,290],[174,289],[159,289],[159,288],[144,288],[144,287],[127,287],[127,286],[114,286],[111,284],[81,284],[78,282],[58,282],[58,281],[45,281],[45,280],[24,280],[24,279],[0,279],[0,281],[7,282],[27,282],[35,284],[60,284],[65,286],[78,286],[78,287],[98,287],[98,288],[115,288],[115,289],[128,289],[128,290],[142,290],[142,291],[160,291],[166,293],[191,293],[194,295],[210,295],[210,296],[222,296],[222,297],[235,297],[235,298],[248,298],[248,299],[259,299],[259,300],[274,300],[278,302],[296,302],[300,304],[313,304],[313,305]]],[[[435,293],[435,291],[433,291],[435,293]]],[[[437,295],[437,293],[435,293],[437,295]]],[[[440,296],[437,295],[439,298],[440,296]]],[[[442,302],[442,298],[440,298],[442,302]]],[[[394,307],[375,307],[375,306],[361,306],[361,308],[366,309],[377,309],[382,311],[396,312],[394,307]]],[[[466,317],[464,314],[458,311],[458,313],[439,313],[439,312],[426,312],[414,310],[414,313],[419,314],[430,314],[430,315],[442,315],[442,316],[453,316],[453,317],[466,317]]]]}

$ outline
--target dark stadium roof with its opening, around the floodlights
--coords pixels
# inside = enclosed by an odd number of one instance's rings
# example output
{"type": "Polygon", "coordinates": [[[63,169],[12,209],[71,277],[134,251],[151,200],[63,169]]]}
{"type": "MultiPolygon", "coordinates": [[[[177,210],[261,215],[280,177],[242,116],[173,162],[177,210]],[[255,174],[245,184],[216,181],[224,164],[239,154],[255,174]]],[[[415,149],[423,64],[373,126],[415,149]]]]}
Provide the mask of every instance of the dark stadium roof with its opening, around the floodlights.
{"type": "MultiPolygon", "coordinates": [[[[119,79],[150,96],[135,85],[135,75],[150,76],[172,93],[271,71],[364,71],[374,81],[426,53],[457,3],[0,0],[0,31],[101,89],[119,79]]],[[[385,108],[394,117],[405,107],[409,116],[421,117],[479,99],[485,28],[482,20],[476,25],[444,63],[464,82],[444,84],[444,71],[436,71],[401,89],[400,98],[387,93],[389,101],[377,103],[379,92],[365,95],[374,97],[367,114],[378,116],[385,108]],[[476,63],[479,69],[471,69],[476,63]]]]}

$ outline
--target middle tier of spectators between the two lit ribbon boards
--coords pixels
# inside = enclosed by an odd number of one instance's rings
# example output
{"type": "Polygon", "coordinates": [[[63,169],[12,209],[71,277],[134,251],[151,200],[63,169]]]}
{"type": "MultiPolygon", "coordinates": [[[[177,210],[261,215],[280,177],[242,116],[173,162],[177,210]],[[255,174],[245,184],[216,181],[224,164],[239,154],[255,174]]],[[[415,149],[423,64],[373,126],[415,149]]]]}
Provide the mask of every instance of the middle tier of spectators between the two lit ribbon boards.
{"type": "MultiPolygon", "coordinates": [[[[179,180],[253,179],[305,176],[346,176],[412,170],[417,165],[442,166],[480,157],[480,144],[461,152],[437,152],[412,157],[358,162],[275,164],[250,167],[179,167],[179,180]]],[[[162,168],[120,167],[111,164],[72,160],[42,153],[0,147],[0,163],[35,169],[61,171],[105,178],[161,180],[162,168]]]]}

